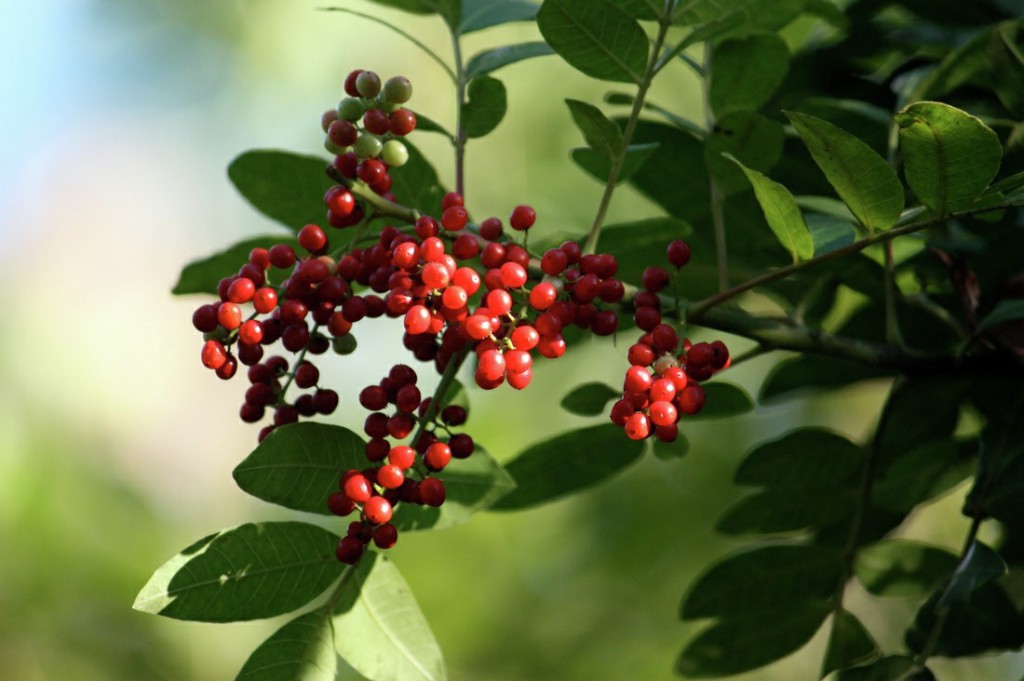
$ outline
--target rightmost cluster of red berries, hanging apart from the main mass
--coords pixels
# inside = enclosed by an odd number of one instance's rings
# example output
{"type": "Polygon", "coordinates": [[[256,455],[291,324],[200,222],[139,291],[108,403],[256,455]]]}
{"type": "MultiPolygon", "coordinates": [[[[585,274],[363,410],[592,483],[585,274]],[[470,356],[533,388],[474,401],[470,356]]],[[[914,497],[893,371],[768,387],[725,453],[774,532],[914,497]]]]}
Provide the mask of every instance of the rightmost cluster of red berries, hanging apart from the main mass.
{"type": "MultiPolygon", "coordinates": [[[[669,262],[680,269],[690,260],[689,246],[674,241],[668,248],[669,262]]],[[[611,408],[611,421],[631,439],[654,435],[671,442],[679,434],[679,419],[703,409],[700,381],[729,366],[729,350],[722,341],[694,343],[680,339],[676,330],[662,324],[657,293],[671,281],[663,267],[647,267],[642,274],[644,290],[633,297],[633,320],[645,333],[630,346],[630,368],[623,383],[623,396],[611,408]]]]}

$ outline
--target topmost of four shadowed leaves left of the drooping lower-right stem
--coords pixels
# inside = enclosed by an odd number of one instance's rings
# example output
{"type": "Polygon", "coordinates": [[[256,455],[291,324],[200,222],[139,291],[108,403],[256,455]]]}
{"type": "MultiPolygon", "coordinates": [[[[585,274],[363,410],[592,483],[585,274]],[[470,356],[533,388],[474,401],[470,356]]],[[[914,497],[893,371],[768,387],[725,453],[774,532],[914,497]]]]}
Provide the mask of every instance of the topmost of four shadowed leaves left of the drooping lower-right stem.
{"type": "Polygon", "coordinates": [[[846,437],[800,428],[755,448],[736,469],[735,482],[790,494],[856,486],[863,462],[864,451],[846,437]]]}

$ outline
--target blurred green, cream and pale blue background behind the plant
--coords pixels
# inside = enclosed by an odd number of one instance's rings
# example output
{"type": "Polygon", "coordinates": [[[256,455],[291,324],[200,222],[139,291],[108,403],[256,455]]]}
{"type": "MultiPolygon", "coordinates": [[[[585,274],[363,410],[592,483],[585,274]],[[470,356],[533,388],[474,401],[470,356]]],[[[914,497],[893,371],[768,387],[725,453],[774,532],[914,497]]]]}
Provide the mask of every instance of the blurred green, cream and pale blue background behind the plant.
{"type": "MultiPolygon", "coordinates": [[[[169,294],[187,260],[274,229],[238,197],[225,166],[252,147],[317,153],[319,115],[353,68],[410,77],[413,107],[452,120],[451,86],[436,65],[379,25],[317,11],[322,4],[37,0],[5,8],[2,679],[229,679],[281,624],[165,621],[131,603],[158,565],[199,537],[295,516],[234,486],[230,471],[256,434],[236,416],[243,387],[202,369],[189,323],[200,301],[169,294]]],[[[439,20],[345,4],[446,46],[439,20]]],[[[531,26],[485,31],[467,41],[467,53],[532,39],[531,26]]],[[[510,112],[470,147],[471,209],[507,215],[530,203],[538,229],[581,233],[600,186],[568,160],[581,140],[562,100],[596,100],[604,86],[555,58],[499,76],[510,112]]],[[[662,78],[652,99],[699,119],[699,91],[682,68],[662,78]]],[[[451,183],[446,142],[422,134],[417,143],[451,183]]],[[[611,221],[654,214],[624,189],[611,221]]],[[[364,416],[357,390],[406,356],[389,325],[366,328],[360,340],[356,355],[324,368],[342,393],[338,421],[351,427],[364,416]]],[[[471,432],[505,460],[586,423],[557,401],[581,380],[621,380],[626,340],[618,348],[588,342],[575,356],[544,363],[524,393],[474,393],[471,432]]],[[[738,339],[731,345],[744,347],[738,339]]],[[[745,364],[730,380],[756,393],[774,360],[745,364]]],[[[712,527],[741,494],[729,480],[744,451],[798,423],[862,438],[885,387],[694,425],[685,458],[647,456],[571,500],[403,536],[392,555],[452,679],[673,678],[674,659],[695,632],[677,619],[680,598],[713,557],[739,545],[712,527]]],[[[966,529],[959,493],[904,534],[956,547],[966,529]]],[[[856,611],[865,597],[852,598],[856,611]]],[[[912,607],[885,607],[888,620],[874,626],[891,649],[912,607]]],[[[749,678],[811,678],[822,645],[819,634],[812,650],[749,678]]],[[[943,679],[1010,678],[1022,667],[1020,655],[936,665],[943,679]]]]}

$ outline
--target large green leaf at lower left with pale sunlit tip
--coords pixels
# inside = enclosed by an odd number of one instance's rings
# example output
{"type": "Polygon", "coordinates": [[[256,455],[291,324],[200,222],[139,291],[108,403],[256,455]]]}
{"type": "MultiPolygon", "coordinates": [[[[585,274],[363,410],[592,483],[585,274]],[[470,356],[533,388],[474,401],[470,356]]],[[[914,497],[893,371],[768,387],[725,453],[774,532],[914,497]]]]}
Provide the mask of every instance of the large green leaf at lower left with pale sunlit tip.
{"type": "Polygon", "coordinates": [[[225,529],[164,563],[134,608],[176,620],[238,622],[291,612],[341,574],[339,538],[305,522],[225,529]]]}

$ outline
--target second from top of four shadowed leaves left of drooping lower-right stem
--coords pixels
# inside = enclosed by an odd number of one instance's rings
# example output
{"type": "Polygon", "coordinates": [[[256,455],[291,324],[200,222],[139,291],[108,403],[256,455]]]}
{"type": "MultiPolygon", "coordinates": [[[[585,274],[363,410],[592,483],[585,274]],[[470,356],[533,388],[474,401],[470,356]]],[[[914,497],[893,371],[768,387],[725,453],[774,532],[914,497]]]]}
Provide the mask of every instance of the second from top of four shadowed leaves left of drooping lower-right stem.
{"type": "MultiPolygon", "coordinates": [[[[812,487],[813,488],[813,487],[812,487]]],[[[856,490],[769,491],[751,495],[730,506],[715,523],[725,535],[768,535],[797,529],[821,529],[853,515],[856,490]]]]}

